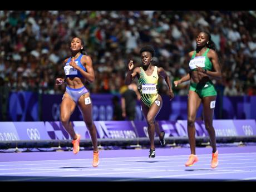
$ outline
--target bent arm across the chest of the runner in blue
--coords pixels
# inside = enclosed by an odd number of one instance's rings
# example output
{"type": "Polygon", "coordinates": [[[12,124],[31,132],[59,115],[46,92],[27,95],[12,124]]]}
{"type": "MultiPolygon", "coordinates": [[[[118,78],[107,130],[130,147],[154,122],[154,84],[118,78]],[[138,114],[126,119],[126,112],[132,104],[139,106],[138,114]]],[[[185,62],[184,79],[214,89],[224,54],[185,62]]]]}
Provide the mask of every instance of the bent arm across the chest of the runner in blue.
{"type": "Polygon", "coordinates": [[[76,70],[79,71],[88,82],[93,82],[95,80],[95,75],[92,67],[91,57],[87,55],[82,56],[81,63],[83,66],[85,66],[86,71],[83,71],[83,69],[76,65],[75,62],[70,62],[70,66],[76,68],[76,70]]]}

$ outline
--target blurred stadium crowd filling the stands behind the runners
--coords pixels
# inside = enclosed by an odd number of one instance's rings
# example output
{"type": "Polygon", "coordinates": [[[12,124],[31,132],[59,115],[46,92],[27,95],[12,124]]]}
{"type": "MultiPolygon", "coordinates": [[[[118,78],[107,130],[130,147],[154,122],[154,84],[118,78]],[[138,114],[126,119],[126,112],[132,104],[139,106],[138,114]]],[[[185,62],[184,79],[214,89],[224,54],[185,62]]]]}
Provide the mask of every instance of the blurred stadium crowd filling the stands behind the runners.
{"type": "MultiPolygon", "coordinates": [[[[140,65],[139,50],[152,45],[156,65],[173,82],[188,71],[195,36],[209,31],[220,58],[223,79],[214,82],[223,95],[256,95],[255,11],[0,11],[0,92],[58,94],[65,85],[62,61],[74,36],[85,42],[96,80],[92,93],[123,92],[127,63],[140,65]]],[[[189,84],[174,88],[186,95],[189,84]]],[[[159,91],[168,90],[160,79],[159,91]]]]}

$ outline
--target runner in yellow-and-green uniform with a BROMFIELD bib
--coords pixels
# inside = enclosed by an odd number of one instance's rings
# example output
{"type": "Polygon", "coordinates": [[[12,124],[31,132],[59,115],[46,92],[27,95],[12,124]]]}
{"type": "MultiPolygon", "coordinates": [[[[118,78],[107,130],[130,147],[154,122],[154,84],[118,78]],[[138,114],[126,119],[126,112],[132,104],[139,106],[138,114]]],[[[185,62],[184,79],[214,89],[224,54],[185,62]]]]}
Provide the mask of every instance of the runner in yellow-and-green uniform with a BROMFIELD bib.
{"type": "Polygon", "coordinates": [[[159,75],[165,79],[169,87],[170,100],[174,98],[173,90],[171,89],[170,78],[163,67],[152,65],[152,60],[155,55],[154,48],[145,46],[140,50],[142,67],[135,67],[132,60],[128,64],[128,72],[125,78],[125,84],[130,85],[135,77],[139,80],[139,90],[141,94],[141,109],[147,121],[147,132],[150,139],[149,157],[155,157],[155,130],[159,135],[160,144],[165,145],[164,132],[160,132],[159,125],[155,121],[156,115],[163,106],[162,97],[157,92],[157,81],[159,75]]]}

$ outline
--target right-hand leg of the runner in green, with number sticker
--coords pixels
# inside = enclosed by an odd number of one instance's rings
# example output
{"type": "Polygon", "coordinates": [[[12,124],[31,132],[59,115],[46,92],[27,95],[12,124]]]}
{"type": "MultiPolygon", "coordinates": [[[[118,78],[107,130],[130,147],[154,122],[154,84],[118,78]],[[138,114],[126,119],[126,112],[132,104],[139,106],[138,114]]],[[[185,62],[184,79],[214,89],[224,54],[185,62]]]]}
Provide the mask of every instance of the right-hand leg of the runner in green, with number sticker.
{"type": "Polygon", "coordinates": [[[213,147],[213,153],[216,152],[216,136],[213,127],[213,115],[215,109],[216,96],[203,97],[203,111],[204,111],[204,124],[205,129],[210,136],[211,147],[213,147]]]}

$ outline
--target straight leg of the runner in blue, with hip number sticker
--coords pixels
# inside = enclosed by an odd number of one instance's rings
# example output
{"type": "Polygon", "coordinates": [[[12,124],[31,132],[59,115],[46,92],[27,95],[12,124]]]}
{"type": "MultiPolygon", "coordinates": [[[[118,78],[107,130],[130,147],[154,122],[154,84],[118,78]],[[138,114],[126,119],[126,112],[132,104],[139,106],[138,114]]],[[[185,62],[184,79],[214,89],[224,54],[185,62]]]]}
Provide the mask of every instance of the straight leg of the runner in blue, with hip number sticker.
{"type": "Polygon", "coordinates": [[[97,131],[92,120],[92,101],[90,93],[85,93],[80,97],[80,99],[78,100],[78,107],[82,113],[83,121],[85,121],[87,129],[90,132],[93,151],[98,151],[97,131]]]}

